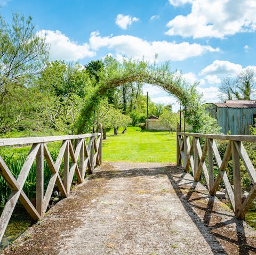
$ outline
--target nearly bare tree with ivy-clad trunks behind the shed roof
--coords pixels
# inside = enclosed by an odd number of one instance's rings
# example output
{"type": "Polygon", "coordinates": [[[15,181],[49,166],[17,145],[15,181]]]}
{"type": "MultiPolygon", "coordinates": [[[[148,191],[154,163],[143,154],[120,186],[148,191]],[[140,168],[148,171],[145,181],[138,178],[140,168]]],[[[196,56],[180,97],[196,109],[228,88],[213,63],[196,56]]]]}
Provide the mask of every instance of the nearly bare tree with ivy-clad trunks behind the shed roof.
{"type": "Polygon", "coordinates": [[[256,85],[256,73],[246,68],[236,78],[226,77],[219,86],[219,91],[228,99],[251,100],[256,85]]]}

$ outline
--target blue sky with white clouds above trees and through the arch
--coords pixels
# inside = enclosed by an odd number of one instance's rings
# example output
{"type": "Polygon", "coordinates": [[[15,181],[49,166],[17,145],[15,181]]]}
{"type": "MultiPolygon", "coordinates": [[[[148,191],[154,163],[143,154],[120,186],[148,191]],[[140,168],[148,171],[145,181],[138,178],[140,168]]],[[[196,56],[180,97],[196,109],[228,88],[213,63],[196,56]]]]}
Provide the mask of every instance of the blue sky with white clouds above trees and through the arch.
{"type": "MultiPolygon", "coordinates": [[[[31,15],[50,44],[52,60],[81,64],[111,54],[170,61],[188,83],[200,81],[207,102],[218,102],[218,86],[245,68],[256,70],[256,1],[251,0],[0,0],[1,15],[31,15]]],[[[155,102],[175,103],[146,85],[155,102]]],[[[174,105],[177,110],[177,105],[174,105]]]]}

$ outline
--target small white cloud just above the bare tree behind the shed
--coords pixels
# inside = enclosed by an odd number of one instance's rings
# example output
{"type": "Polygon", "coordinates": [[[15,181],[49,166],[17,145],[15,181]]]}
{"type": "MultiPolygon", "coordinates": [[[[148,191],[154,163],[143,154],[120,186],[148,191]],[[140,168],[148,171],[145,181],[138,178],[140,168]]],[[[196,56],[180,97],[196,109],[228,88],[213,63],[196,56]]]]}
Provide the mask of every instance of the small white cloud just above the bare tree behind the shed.
{"type": "Polygon", "coordinates": [[[242,70],[241,64],[234,64],[229,61],[215,60],[212,64],[207,65],[200,75],[225,75],[225,76],[236,76],[238,72],[242,70]]]}

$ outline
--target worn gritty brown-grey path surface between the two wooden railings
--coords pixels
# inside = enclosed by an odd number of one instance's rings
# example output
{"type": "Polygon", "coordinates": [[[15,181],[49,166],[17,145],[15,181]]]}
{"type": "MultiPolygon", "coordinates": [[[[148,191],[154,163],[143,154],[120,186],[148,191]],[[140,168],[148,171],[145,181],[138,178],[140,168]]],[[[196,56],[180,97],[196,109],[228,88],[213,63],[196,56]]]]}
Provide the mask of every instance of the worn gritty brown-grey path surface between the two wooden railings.
{"type": "Polygon", "coordinates": [[[172,165],[104,163],[3,254],[256,254],[256,232],[172,165]]]}

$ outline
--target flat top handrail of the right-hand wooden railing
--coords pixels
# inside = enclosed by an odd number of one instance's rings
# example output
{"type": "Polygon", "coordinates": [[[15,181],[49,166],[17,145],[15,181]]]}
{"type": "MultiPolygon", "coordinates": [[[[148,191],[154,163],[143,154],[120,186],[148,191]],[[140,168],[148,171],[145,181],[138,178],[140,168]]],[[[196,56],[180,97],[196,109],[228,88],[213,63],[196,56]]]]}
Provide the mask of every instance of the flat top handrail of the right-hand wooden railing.
{"type": "Polygon", "coordinates": [[[226,140],[226,141],[256,142],[255,135],[219,135],[219,134],[183,133],[183,132],[178,132],[177,135],[226,140]]]}

